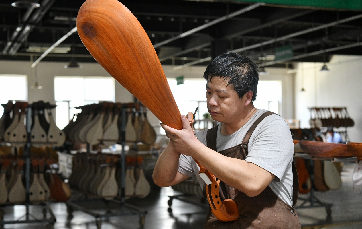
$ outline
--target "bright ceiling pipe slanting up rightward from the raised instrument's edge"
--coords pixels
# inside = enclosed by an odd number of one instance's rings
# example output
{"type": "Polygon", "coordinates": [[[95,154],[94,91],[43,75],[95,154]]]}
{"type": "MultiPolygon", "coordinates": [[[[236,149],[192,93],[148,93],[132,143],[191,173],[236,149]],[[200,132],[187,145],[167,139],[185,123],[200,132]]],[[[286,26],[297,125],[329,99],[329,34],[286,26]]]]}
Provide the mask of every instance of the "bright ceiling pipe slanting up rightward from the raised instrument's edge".
{"type": "Polygon", "coordinates": [[[175,37],[173,37],[173,38],[164,40],[163,42],[154,44],[154,45],[153,45],[153,48],[158,48],[158,47],[160,47],[160,46],[163,46],[164,44],[168,44],[168,43],[170,43],[170,42],[173,42],[174,40],[177,40],[177,39],[183,38],[183,37],[185,37],[185,36],[191,35],[191,34],[193,34],[193,33],[196,33],[196,32],[198,32],[198,31],[200,31],[200,30],[206,29],[207,27],[210,27],[210,26],[215,25],[215,24],[217,24],[217,23],[220,23],[220,22],[222,22],[222,21],[228,20],[228,19],[230,19],[230,18],[232,18],[232,17],[238,16],[238,15],[240,15],[240,14],[242,14],[242,13],[248,12],[249,10],[255,9],[255,8],[257,8],[257,7],[260,7],[260,6],[263,5],[263,4],[264,4],[264,3],[256,3],[256,4],[250,5],[250,6],[248,6],[248,7],[245,7],[245,8],[243,8],[243,9],[237,10],[237,11],[235,11],[235,12],[233,12],[233,13],[227,14],[227,15],[224,16],[224,17],[220,17],[220,18],[218,18],[218,19],[216,19],[216,20],[214,20],[214,21],[211,21],[211,22],[209,22],[209,23],[206,23],[206,24],[204,24],[204,25],[201,25],[201,26],[199,26],[199,27],[196,27],[196,28],[194,28],[194,29],[191,29],[191,30],[189,30],[189,31],[186,31],[186,32],[184,32],[184,33],[182,33],[182,34],[180,34],[180,35],[178,35],[178,36],[175,36],[175,37]]]}

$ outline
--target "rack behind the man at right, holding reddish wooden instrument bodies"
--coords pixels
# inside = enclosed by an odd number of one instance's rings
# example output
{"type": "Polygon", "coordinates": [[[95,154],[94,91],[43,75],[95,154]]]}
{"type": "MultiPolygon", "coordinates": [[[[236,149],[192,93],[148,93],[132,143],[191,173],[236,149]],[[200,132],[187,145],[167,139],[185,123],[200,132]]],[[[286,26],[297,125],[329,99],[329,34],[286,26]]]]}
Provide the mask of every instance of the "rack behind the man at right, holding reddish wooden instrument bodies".
{"type": "Polygon", "coordinates": [[[362,143],[293,141],[299,191],[300,193],[310,193],[308,198],[299,197],[299,200],[303,200],[303,202],[296,208],[325,207],[327,219],[330,219],[332,204],[321,202],[315,197],[314,191],[325,192],[340,189],[342,185],[340,172],[333,162],[360,163],[362,143]]]}

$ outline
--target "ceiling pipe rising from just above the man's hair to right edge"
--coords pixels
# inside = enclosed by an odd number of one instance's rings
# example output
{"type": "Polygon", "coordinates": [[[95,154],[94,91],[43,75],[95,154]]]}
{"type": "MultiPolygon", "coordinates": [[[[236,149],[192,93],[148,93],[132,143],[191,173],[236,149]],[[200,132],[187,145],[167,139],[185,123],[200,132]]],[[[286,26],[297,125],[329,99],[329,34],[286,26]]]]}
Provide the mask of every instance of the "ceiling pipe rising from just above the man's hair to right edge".
{"type": "Polygon", "coordinates": [[[299,31],[299,32],[296,32],[296,33],[288,34],[286,36],[281,36],[279,38],[271,39],[271,40],[268,40],[268,41],[265,41],[265,42],[260,42],[260,43],[257,43],[257,44],[253,44],[251,46],[234,49],[234,50],[231,50],[231,51],[228,51],[228,52],[243,52],[243,51],[246,51],[246,50],[249,50],[249,49],[252,49],[252,48],[257,48],[257,47],[264,46],[264,45],[267,45],[267,44],[271,44],[271,43],[274,43],[274,42],[286,40],[286,39],[289,39],[289,38],[292,38],[292,37],[295,37],[295,36],[300,36],[300,35],[303,35],[303,34],[311,33],[313,31],[325,29],[327,27],[331,27],[331,26],[335,26],[335,25],[338,25],[338,24],[341,24],[341,23],[353,21],[353,20],[356,20],[356,19],[359,19],[359,18],[362,18],[362,14],[358,14],[358,15],[353,16],[353,17],[349,17],[349,18],[345,18],[345,19],[342,19],[342,20],[327,23],[325,25],[317,26],[317,27],[314,27],[314,28],[302,30],[302,31],[299,31]]]}

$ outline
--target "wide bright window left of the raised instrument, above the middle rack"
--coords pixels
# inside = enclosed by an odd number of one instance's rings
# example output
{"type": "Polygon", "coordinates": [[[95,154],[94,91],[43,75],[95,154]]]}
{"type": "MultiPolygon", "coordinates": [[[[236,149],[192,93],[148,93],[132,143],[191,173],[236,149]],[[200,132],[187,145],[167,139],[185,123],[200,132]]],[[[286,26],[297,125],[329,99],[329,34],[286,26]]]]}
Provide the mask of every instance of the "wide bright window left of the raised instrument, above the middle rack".
{"type": "Polygon", "coordinates": [[[63,129],[68,125],[75,107],[115,101],[113,77],[62,77],[54,78],[54,98],[56,101],[56,125],[63,129]]]}

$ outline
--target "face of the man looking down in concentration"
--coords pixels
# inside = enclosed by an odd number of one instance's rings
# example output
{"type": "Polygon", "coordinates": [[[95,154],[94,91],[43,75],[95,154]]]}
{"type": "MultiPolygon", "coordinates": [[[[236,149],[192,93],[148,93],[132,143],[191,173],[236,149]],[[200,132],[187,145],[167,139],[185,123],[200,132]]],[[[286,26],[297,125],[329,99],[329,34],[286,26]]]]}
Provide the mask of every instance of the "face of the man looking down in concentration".
{"type": "Polygon", "coordinates": [[[206,102],[212,119],[228,124],[241,117],[241,111],[245,107],[245,96],[239,98],[231,85],[226,86],[228,79],[224,79],[212,77],[211,81],[206,83],[206,102]]]}

